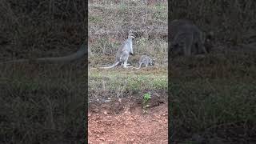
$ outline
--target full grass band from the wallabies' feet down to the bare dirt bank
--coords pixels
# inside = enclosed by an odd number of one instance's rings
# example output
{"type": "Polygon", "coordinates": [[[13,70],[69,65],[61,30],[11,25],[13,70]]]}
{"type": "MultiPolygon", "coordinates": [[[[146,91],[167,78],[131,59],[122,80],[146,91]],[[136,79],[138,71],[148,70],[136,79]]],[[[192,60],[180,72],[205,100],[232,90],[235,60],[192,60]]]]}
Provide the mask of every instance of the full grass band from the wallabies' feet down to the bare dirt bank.
{"type": "Polygon", "coordinates": [[[128,98],[145,91],[167,90],[166,69],[89,70],[90,102],[128,98]]]}

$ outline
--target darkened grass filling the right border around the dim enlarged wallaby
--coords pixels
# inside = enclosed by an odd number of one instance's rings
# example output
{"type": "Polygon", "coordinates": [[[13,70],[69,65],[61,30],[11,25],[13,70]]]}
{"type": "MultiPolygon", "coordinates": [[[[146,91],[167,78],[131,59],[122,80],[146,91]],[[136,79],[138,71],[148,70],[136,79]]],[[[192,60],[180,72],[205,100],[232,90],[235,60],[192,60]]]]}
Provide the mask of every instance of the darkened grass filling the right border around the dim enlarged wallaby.
{"type": "Polygon", "coordinates": [[[256,49],[238,46],[255,42],[255,2],[169,2],[170,21],[190,19],[214,32],[206,58],[169,61],[173,142],[255,142],[256,49]]]}

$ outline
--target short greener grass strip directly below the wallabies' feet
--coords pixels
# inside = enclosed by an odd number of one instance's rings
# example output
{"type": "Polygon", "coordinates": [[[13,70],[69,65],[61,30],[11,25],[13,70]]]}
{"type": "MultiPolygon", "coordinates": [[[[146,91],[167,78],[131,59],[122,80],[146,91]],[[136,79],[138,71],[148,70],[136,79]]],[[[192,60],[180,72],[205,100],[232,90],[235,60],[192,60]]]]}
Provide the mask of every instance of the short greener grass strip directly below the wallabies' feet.
{"type": "Polygon", "coordinates": [[[120,71],[94,71],[89,74],[90,90],[167,90],[167,74],[133,74],[120,71]]]}

